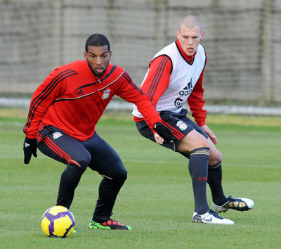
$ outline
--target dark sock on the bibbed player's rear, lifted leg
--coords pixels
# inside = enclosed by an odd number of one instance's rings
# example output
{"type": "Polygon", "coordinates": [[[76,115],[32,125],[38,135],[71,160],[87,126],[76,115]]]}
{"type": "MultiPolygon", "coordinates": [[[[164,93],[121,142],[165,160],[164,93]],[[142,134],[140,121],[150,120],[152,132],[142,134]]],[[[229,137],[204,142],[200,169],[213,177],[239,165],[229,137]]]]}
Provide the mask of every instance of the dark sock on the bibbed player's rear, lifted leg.
{"type": "Polygon", "coordinates": [[[216,205],[223,205],[228,200],[223,193],[223,186],[221,185],[223,177],[223,172],[221,169],[221,162],[218,164],[209,166],[208,168],[208,184],[211,189],[211,197],[213,198],[213,203],[216,205]]]}

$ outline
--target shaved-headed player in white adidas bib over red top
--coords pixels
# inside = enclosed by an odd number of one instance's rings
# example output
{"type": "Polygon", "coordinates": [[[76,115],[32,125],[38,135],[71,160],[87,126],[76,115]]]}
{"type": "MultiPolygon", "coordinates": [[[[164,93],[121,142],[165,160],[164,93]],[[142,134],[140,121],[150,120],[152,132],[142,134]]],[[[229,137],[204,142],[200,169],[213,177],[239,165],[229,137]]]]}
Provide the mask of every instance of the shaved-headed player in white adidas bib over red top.
{"type": "Polygon", "coordinates": [[[176,31],[177,40],[155,54],[141,85],[155,103],[164,125],[171,129],[173,143],[162,144],[163,139],[149,129],[137,106],[133,108],[133,115],[138,132],[143,136],[189,159],[188,169],[195,199],[192,222],[234,224],[211,210],[207,202],[208,183],[214,210],[246,211],[254,206],[248,198],[226,197],[223,193],[222,155],[215,146],[218,143],[216,136],[206,125],[206,110],[203,109],[202,83],[207,53],[200,41],[204,34],[197,16],[185,16],[176,31]],[[195,122],[187,117],[188,111],[183,108],[186,102],[195,122]]]}

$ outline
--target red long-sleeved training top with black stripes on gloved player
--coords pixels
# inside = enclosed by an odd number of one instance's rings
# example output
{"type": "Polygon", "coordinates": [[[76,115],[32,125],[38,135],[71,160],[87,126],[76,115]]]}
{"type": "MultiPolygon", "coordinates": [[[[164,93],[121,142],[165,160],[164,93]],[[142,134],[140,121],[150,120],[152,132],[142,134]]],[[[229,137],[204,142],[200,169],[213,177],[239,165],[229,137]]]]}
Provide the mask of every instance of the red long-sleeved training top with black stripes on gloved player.
{"type": "Polygon", "coordinates": [[[93,136],[96,123],[115,94],[135,103],[150,129],[156,122],[163,123],[150,97],[143,94],[123,68],[109,64],[98,78],[86,60],[77,60],[56,68],[39,85],[32,96],[23,132],[27,138],[36,138],[42,122],[86,141],[93,136]]]}

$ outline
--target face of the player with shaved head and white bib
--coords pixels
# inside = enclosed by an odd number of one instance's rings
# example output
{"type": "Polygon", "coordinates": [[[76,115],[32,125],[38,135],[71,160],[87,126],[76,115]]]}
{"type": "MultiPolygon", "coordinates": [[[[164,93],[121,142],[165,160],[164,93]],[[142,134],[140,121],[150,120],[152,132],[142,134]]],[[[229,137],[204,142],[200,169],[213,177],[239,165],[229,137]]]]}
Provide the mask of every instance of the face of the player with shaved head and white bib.
{"type": "Polygon", "coordinates": [[[180,31],[176,32],[176,38],[180,41],[181,47],[187,56],[194,55],[203,37],[204,31],[200,32],[199,26],[188,29],[182,25],[180,31]]]}

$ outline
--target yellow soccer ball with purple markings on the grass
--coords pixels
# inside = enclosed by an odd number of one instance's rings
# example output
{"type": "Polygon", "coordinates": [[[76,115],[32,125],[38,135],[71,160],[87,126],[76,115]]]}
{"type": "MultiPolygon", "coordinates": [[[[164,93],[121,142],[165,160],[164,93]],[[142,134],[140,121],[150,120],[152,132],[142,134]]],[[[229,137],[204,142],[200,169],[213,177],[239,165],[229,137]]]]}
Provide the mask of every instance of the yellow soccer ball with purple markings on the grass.
{"type": "Polygon", "coordinates": [[[41,217],[41,228],[48,237],[66,238],[72,234],[74,226],[72,212],[63,206],[53,206],[41,217]]]}

